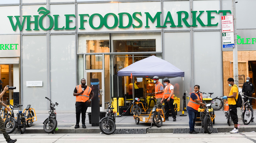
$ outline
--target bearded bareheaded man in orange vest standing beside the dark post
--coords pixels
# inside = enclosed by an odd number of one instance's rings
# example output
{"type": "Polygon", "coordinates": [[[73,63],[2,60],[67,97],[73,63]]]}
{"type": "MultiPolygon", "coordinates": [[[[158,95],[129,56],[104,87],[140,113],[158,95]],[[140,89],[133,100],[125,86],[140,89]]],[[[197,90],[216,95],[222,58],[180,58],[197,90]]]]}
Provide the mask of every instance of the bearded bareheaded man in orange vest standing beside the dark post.
{"type": "Polygon", "coordinates": [[[81,79],[81,84],[75,87],[73,95],[76,96],[75,100],[75,114],[76,114],[76,124],[75,129],[79,128],[80,122],[80,114],[82,113],[82,128],[86,128],[85,126],[85,115],[86,110],[88,108],[88,103],[90,103],[93,99],[94,93],[91,87],[85,85],[86,80],[84,78],[81,79]],[[90,99],[91,95],[91,99],[90,99]]]}

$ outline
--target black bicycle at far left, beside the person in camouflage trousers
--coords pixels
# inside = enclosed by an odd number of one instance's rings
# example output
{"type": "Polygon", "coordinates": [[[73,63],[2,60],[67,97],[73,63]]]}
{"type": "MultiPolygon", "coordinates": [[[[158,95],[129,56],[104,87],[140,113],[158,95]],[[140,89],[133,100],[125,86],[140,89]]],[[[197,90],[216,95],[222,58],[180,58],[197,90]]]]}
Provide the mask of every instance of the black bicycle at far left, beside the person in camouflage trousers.
{"type": "Polygon", "coordinates": [[[22,105],[13,104],[13,106],[16,106],[19,108],[17,113],[17,119],[15,119],[14,117],[9,117],[5,120],[4,124],[5,124],[6,132],[8,134],[11,134],[12,132],[14,132],[16,128],[18,128],[18,131],[20,132],[20,134],[24,134],[26,130],[26,118],[25,118],[25,114],[22,112],[22,110],[20,110],[20,107],[22,105]]]}

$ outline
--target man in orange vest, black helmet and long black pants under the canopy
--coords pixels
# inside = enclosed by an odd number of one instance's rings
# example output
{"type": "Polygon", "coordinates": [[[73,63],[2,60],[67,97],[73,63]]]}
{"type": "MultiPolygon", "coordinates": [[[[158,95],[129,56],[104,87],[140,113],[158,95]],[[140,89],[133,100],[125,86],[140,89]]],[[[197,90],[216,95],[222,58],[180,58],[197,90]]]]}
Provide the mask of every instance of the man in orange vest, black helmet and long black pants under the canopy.
{"type": "Polygon", "coordinates": [[[161,103],[164,102],[164,109],[165,109],[164,118],[165,118],[166,121],[169,120],[169,112],[170,112],[169,110],[171,110],[173,121],[176,121],[176,114],[175,114],[175,110],[174,110],[174,107],[173,107],[173,102],[174,102],[173,89],[174,89],[174,86],[170,84],[170,80],[167,77],[165,77],[163,79],[163,83],[164,83],[165,87],[164,87],[164,96],[161,100],[161,103]]]}

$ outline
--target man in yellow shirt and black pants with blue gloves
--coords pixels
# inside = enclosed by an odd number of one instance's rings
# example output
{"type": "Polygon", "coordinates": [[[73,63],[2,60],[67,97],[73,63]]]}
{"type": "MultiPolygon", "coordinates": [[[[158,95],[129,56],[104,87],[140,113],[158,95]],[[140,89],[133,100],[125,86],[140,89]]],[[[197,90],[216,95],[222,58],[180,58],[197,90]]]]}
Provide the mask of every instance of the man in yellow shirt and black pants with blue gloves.
{"type": "Polygon", "coordinates": [[[231,134],[237,134],[238,132],[238,128],[237,128],[237,124],[238,124],[238,117],[237,117],[237,106],[236,106],[236,101],[235,99],[238,98],[238,87],[237,85],[234,84],[234,79],[233,78],[228,78],[227,79],[227,83],[228,86],[232,87],[229,95],[228,96],[224,96],[223,99],[227,99],[228,98],[228,106],[229,106],[229,112],[231,115],[231,118],[233,120],[233,123],[235,125],[234,129],[232,131],[230,131],[229,133],[231,134]]]}

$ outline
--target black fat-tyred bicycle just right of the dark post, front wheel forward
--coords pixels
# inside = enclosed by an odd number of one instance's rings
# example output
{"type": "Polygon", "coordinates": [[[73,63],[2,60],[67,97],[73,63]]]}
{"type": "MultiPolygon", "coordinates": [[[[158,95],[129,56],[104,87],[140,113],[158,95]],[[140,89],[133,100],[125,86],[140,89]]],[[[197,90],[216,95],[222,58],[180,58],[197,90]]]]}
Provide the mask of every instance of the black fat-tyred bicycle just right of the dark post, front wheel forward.
{"type": "Polygon", "coordinates": [[[106,102],[106,104],[108,105],[106,117],[100,119],[99,121],[99,129],[102,133],[106,135],[111,135],[116,130],[116,114],[113,111],[113,101],[114,98],[112,97],[111,103],[106,102]]]}

